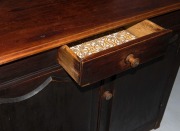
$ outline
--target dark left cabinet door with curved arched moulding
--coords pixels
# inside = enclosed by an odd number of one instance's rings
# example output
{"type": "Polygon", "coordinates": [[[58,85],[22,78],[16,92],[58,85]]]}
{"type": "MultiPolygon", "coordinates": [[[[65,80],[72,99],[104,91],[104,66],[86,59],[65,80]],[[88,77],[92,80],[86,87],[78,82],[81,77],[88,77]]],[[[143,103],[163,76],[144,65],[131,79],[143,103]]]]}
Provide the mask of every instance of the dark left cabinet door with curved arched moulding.
{"type": "Polygon", "coordinates": [[[95,131],[98,89],[94,86],[79,88],[61,70],[1,89],[0,130],[95,131]]]}

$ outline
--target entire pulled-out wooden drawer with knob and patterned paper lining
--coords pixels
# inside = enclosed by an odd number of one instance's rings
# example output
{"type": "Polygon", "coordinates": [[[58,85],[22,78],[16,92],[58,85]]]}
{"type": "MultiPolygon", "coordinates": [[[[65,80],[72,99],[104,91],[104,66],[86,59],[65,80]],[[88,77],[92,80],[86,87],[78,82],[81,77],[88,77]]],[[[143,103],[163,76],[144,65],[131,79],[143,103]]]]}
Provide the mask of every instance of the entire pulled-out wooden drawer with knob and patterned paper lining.
{"type": "Polygon", "coordinates": [[[73,47],[59,48],[59,64],[85,86],[165,54],[171,30],[151,21],[73,47]]]}

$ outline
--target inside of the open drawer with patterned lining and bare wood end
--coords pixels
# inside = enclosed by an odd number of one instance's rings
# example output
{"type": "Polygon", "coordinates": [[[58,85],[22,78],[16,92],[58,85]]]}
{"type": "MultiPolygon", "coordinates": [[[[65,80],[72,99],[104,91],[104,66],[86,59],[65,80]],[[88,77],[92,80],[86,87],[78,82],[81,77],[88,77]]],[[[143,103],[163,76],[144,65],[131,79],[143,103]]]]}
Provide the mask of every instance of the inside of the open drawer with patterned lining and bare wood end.
{"type": "Polygon", "coordinates": [[[152,23],[151,21],[144,20],[137,24],[126,26],[118,32],[72,46],[70,47],[70,50],[80,59],[84,59],[92,54],[125,44],[129,41],[161,30],[163,30],[162,27],[152,23]]]}

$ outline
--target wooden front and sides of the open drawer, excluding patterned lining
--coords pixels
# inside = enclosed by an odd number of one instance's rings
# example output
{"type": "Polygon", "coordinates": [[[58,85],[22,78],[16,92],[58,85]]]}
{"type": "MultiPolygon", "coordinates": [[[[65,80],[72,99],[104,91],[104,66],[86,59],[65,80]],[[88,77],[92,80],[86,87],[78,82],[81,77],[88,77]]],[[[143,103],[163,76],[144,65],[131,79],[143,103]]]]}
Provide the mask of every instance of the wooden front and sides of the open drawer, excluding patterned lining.
{"type": "Polygon", "coordinates": [[[85,58],[80,58],[68,46],[63,46],[59,49],[58,61],[80,86],[85,86],[165,53],[170,30],[149,21],[130,26],[127,30],[137,38],[85,58]]]}

